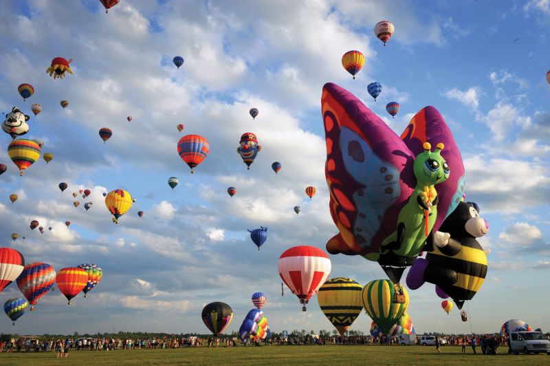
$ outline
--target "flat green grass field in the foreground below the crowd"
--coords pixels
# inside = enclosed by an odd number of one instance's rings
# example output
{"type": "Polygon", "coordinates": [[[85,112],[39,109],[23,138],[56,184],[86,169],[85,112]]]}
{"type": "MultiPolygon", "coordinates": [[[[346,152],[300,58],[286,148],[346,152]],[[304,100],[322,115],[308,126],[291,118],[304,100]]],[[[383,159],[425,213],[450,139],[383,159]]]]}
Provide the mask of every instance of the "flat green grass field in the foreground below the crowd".
{"type": "MultiPolygon", "coordinates": [[[[479,348],[479,347],[478,347],[479,348]]],[[[506,351],[505,347],[502,349],[506,351]]],[[[232,348],[72,351],[63,360],[54,352],[0,354],[0,365],[550,365],[545,354],[486,356],[461,354],[461,347],[422,346],[271,346],[232,348]]]]}

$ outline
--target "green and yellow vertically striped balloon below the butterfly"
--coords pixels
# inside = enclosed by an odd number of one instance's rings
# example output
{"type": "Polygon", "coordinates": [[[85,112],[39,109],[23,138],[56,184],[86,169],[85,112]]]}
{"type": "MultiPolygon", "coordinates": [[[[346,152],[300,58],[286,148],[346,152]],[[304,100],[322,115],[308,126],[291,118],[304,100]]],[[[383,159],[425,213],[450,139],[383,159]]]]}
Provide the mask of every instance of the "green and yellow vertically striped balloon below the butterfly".
{"type": "Polygon", "coordinates": [[[388,279],[377,279],[366,284],[362,291],[363,306],[384,334],[403,316],[408,306],[408,292],[388,279]],[[401,293],[402,292],[402,293],[401,293]],[[396,297],[404,301],[396,301],[396,297]]]}

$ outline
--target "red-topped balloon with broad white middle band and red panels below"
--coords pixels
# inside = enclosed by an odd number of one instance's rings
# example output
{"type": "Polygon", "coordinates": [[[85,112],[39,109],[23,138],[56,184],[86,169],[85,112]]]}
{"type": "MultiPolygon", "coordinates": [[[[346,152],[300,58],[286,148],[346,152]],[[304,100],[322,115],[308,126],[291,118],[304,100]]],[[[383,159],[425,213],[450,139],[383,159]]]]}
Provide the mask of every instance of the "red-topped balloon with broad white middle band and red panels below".
{"type": "Polygon", "coordinates": [[[329,256],[314,246],[294,246],[279,257],[277,268],[279,276],[287,287],[305,305],[320,286],[325,283],[331,272],[329,256]]]}

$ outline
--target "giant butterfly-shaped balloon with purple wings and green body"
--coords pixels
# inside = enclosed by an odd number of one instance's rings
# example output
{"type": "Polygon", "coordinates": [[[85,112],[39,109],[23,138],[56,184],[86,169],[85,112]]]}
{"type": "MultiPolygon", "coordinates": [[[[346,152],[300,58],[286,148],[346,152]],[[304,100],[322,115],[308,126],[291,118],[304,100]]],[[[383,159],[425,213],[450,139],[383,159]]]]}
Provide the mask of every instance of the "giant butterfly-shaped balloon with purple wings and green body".
{"type": "Polygon", "coordinates": [[[340,231],[327,250],[377,261],[399,282],[424,245],[430,249],[433,233],[463,195],[464,166],[452,133],[437,109],[425,107],[399,138],[358,98],[332,83],[323,88],[322,112],[331,147],[325,169],[329,209],[340,231]],[[425,142],[443,149],[432,152],[425,142]],[[428,201],[429,210],[418,203],[428,201]]]}

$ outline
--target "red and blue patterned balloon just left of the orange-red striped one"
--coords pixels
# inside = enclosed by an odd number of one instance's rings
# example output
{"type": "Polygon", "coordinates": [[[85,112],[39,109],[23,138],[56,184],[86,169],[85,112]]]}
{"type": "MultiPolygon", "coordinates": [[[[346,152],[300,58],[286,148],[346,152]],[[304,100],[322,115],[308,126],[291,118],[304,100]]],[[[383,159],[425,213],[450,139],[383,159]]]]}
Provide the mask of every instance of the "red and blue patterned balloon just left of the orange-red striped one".
{"type": "Polygon", "coordinates": [[[34,262],[23,268],[23,272],[17,277],[17,286],[32,305],[31,311],[39,299],[52,288],[55,281],[56,271],[47,263],[34,262]]]}

